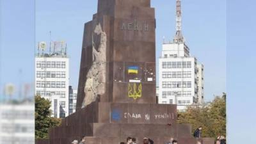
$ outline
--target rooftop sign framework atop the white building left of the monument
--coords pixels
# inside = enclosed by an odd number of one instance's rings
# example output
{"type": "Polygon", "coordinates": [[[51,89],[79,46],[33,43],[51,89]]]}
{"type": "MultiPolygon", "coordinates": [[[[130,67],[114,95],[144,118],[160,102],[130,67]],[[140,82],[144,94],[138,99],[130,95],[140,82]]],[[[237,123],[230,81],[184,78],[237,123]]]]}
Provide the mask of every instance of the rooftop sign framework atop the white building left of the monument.
{"type": "Polygon", "coordinates": [[[46,42],[38,42],[36,57],[67,57],[67,43],[52,41],[48,46],[46,42]]]}

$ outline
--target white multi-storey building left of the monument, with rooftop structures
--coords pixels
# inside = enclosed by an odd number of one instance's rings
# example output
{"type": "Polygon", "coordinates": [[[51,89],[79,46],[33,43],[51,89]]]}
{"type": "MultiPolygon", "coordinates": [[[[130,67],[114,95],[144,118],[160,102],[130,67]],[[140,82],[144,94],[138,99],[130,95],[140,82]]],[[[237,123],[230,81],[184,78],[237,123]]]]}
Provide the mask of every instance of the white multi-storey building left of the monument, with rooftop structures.
{"type": "Polygon", "coordinates": [[[55,45],[54,52],[50,51],[49,54],[40,53],[38,49],[35,58],[35,93],[51,101],[53,117],[64,118],[68,116],[69,58],[63,52],[66,51],[63,44],[55,45]]]}

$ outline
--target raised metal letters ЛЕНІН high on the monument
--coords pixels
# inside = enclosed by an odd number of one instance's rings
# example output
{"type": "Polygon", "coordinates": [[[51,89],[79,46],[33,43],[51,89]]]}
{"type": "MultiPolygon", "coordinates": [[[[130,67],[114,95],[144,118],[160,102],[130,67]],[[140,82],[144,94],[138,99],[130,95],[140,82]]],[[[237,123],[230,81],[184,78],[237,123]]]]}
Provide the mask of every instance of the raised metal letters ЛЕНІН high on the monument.
{"type": "Polygon", "coordinates": [[[123,22],[121,29],[128,31],[149,31],[149,25],[147,22],[138,22],[138,20],[134,19],[129,23],[123,22]]]}

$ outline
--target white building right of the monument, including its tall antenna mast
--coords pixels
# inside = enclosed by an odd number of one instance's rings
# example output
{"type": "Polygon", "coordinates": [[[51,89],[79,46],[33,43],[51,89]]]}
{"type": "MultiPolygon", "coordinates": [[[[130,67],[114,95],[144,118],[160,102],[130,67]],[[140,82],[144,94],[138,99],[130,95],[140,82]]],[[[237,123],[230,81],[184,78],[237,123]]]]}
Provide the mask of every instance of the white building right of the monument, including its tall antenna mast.
{"type": "Polygon", "coordinates": [[[164,43],[159,58],[159,104],[177,104],[184,111],[204,102],[204,65],[190,56],[181,33],[180,0],[177,0],[177,27],[173,42],[164,43]]]}

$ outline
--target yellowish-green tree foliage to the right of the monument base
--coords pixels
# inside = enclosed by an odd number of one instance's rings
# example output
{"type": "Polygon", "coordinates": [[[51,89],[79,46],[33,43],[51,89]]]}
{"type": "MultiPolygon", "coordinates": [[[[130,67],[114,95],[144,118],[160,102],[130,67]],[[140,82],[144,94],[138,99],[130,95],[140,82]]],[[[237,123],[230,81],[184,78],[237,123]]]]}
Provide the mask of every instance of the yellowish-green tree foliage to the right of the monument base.
{"type": "Polygon", "coordinates": [[[190,106],[179,112],[177,122],[191,124],[193,131],[202,126],[203,137],[226,136],[226,94],[215,97],[209,106],[190,106]]]}

